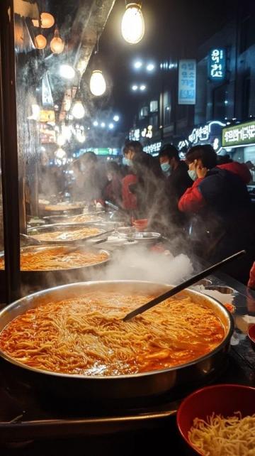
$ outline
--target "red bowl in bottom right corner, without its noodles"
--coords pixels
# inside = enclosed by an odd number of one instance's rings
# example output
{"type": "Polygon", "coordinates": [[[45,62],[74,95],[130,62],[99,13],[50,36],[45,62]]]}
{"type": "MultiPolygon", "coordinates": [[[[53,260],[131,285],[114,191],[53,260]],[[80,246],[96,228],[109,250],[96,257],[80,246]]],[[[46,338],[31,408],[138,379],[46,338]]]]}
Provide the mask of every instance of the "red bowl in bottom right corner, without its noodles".
{"type": "Polygon", "coordinates": [[[188,441],[188,431],[193,425],[193,419],[206,419],[213,412],[232,416],[237,411],[242,413],[242,417],[255,413],[255,388],[231,384],[206,386],[190,394],[181,403],[177,412],[177,425],[194,454],[202,455],[188,441]]]}

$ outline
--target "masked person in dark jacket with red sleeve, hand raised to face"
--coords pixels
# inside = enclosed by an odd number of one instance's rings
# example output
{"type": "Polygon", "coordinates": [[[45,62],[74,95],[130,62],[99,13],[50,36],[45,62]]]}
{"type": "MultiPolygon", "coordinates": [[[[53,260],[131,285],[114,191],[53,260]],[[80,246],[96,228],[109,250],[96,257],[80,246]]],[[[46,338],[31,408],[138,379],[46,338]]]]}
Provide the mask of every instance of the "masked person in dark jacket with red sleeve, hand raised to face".
{"type": "Polygon", "coordinates": [[[190,233],[198,256],[217,262],[235,251],[246,255],[224,271],[247,283],[255,257],[255,217],[241,163],[217,165],[209,144],[194,146],[186,154],[193,185],[179,200],[179,210],[193,216],[190,233]]]}

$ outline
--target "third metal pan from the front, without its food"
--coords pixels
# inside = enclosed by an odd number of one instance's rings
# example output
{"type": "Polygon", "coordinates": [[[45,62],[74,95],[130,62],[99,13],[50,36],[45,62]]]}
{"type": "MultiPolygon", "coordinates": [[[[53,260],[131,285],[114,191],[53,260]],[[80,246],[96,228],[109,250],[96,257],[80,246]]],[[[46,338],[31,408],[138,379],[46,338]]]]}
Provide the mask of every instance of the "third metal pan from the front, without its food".
{"type": "MultiPolygon", "coordinates": [[[[99,232],[98,234],[104,234],[107,231],[106,225],[104,224],[99,224],[99,223],[70,223],[70,224],[50,224],[50,225],[44,225],[43,227],[35,227],[35,228],[29,228],[28,229],[28,238],[31,241],[31,244],[38,244],[38,239],[33,237],[33,234],[43,234],[43,233],[49,233],[49,232],[55,232],[55,231],[61,231],[61,232],[67,232],[67,231],[76,231],[77,229],[80,228],[98,228],[99,232]]],[[[42,244],[49,244],[49,245],[55,245],[55,244],[80,244],[83,241],[88,241],[89,239],[93,238],[93,236],[87,236],[81,239],[74,239],[74,240],[67,240],[64,239],[61,241],[60,239],[52,240],[52,241],[41,241],[42,244]]],[[[28,239],[28,240],[29,240],[28,239]]]]}

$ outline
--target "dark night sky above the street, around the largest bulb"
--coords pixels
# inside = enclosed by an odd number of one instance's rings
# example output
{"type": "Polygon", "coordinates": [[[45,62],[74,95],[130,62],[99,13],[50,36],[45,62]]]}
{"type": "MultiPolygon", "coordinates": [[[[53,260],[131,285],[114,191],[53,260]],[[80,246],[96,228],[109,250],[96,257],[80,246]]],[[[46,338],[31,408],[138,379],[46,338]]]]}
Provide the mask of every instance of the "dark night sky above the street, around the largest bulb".
{"type": "Polygon", "coordinates": [[[137,95],[130,92],[136,80],[132,69],[135,58],[160,62],[195,57],[198,45],[234,15],[237,1],[145,0],[145,37],[137,45],[129,45],[120,35],[125,1],[116,0],[99,42],[99,55],[111,85],[105,108],[111,106],[123,116],[123,128],[130,126],[137,112],[137,95]]]}

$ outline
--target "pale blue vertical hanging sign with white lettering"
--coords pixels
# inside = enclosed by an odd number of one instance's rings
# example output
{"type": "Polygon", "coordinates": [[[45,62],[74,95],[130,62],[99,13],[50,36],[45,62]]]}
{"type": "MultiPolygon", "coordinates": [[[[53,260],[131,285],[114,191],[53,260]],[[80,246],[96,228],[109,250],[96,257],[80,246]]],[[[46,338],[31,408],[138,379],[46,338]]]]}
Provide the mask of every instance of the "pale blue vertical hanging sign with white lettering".
{"type": "Polygon", "coordinates": [[[196,104],[196,60],[179,60],[179,104],[196,104]]]}

